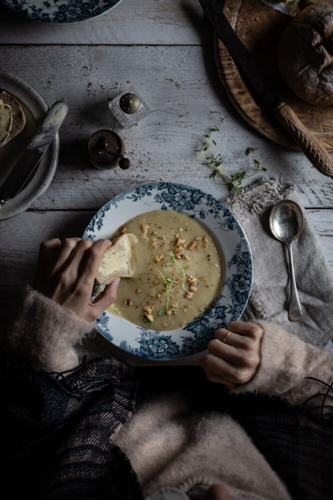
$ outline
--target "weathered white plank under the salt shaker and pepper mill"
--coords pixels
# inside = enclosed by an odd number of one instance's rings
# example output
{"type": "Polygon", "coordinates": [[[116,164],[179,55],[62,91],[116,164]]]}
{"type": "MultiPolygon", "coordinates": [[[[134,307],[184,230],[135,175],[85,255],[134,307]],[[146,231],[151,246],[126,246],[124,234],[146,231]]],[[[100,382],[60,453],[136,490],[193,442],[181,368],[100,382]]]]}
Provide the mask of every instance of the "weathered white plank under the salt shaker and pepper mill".
{"type": "Polygon", "coordinates": [[[96,209],[152,180],[172,179],[225,197],[226,186],[209,179],[210,167],[195,152],[215,124],[221,129],[216,151],[227,173],[249,169],[245,150],[257,146],[267,174],[295,182],[305,206],[332,206],[331,179],[301,152],[262,137],[238,115],[220,83],[212,47],[1,47],[0,56],[3,70],[24,78],[49,104],[61,98],[70,108],[60,130],[57,172],[34,208],[96,209]],[[132,166],[97,170],[88,163],[87,139],[98,128],[117,129],[107,103],[131,84],[152,110],[138,126],[120,132],[132,166]]]}

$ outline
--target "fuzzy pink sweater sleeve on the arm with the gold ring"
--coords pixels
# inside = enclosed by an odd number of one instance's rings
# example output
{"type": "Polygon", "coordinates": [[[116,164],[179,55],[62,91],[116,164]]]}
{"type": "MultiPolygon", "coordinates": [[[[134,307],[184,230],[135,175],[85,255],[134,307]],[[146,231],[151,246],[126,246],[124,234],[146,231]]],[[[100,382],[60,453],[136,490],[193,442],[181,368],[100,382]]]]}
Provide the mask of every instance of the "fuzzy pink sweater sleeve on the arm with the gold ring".
{"type": "Polygon", "coordinates": [[[333,396],[332,352],[304,342],[275,323],[256,322],[264,328],[261,363],[255,376],[249,382],[236,386],[233,392],[256,391],[276,395],[290,404],[302,404],[308,397],[317,394],[309,401],[308,409],[321,405],[323,396],[320,394],[328,391],[333,396]]]}

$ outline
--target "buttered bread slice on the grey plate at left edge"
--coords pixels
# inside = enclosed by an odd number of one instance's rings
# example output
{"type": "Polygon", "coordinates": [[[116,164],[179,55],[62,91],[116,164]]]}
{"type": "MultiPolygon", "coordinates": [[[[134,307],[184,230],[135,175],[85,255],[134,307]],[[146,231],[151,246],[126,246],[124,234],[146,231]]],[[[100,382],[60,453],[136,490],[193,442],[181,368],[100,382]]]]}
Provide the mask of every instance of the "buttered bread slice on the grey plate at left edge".
{"type": "Polygon", "coordinates": [[[0,92],[0,147],[19,134],[25,125],[25,115],[18,100],[0,92]]]}

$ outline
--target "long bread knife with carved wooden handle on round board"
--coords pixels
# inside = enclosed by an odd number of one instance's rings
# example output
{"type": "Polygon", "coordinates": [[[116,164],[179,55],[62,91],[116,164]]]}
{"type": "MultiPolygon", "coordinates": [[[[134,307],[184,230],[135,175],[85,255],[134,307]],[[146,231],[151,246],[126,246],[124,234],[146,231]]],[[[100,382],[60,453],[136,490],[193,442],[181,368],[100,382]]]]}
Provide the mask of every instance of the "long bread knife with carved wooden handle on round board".
{"type": "Polygon", "coordinates": [[[216,34],[225,44],[263,104],[271,109],[294,137],[311,163],[324,175],[333,177],[333,158],[325,146],[302,123],[293,109],[283,102],[280,86],[258,64],[245,47],[216,0],[199,0],[216,34]]]}

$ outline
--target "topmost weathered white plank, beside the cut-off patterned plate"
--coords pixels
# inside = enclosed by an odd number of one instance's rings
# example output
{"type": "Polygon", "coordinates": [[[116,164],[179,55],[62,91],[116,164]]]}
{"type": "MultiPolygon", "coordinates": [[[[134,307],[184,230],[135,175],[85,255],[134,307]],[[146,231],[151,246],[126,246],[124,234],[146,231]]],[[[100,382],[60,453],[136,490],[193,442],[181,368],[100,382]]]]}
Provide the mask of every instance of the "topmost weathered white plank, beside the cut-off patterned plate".
{"type": "Polygon", "coordinates": [[[212,30],[196,0],[126,0],[105,14],[74,24],[30,21],[0,6],[0,43],[196,44],[212,30]]]}

